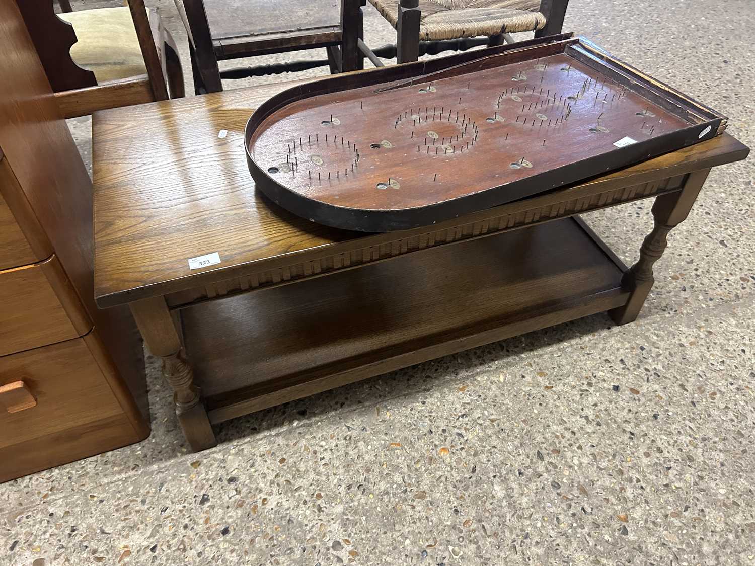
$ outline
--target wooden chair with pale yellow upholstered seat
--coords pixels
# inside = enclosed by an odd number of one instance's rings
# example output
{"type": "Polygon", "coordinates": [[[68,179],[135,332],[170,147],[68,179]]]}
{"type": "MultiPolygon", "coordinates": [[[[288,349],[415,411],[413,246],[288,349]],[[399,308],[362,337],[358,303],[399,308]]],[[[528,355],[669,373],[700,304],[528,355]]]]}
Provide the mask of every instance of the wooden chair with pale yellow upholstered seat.
{"type": "Polygon", "coordinates": [[[64,14],[54,13],[53,0],[17,5],[66,118],[183,97],[173,38],[144,0],[64,14]]]}

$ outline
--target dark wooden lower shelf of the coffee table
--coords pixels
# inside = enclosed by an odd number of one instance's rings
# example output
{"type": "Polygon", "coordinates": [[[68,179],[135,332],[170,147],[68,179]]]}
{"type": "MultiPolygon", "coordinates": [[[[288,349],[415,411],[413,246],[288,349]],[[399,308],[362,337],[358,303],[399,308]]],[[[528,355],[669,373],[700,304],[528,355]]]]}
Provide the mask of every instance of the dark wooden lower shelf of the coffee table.
{"type": "Polygon", "coordinates": [[[627,302],[575,218],[183,309],[214,423],[627,302]]]}

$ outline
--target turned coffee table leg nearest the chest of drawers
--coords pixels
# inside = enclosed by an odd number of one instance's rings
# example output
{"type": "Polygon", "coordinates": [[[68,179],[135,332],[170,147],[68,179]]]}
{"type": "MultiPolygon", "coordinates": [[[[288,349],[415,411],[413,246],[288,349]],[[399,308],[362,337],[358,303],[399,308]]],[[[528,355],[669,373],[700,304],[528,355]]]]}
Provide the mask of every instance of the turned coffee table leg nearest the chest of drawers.
{"type": "Polygon", "coordinates": [[[149,352],[162,358],[162,375],[173,388],[173,402],[186,440],[194,451],[211,448],[217,441],[199,387],[193,383],[192,368],[183,357],[165,297],[139,300],[129,306],[149,352]]]}

